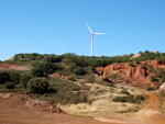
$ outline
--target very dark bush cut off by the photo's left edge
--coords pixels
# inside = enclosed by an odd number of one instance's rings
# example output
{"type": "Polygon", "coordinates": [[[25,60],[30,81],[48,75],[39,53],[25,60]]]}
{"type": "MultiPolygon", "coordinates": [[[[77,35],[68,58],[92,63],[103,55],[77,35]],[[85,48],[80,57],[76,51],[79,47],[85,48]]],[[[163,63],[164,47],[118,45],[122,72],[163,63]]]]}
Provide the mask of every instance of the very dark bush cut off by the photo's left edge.
{"type": "Polygon", "coordinates": [[[4,84],[10,80],[10,75],[6,71],[0,71],[0,84],[4,84]]]}

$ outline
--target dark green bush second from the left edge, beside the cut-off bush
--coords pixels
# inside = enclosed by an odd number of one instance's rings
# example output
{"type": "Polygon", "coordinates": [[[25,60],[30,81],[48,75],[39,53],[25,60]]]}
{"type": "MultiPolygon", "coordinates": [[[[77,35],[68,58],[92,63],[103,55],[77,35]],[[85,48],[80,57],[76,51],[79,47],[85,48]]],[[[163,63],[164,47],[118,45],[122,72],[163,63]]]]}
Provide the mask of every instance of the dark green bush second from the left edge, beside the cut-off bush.
{"type": "Polygon", "coordinates": [[[10,72],[10,80],[14,83],[14,84],[19,84],[20,83],[20,74],[12,70],[10,72]]]}

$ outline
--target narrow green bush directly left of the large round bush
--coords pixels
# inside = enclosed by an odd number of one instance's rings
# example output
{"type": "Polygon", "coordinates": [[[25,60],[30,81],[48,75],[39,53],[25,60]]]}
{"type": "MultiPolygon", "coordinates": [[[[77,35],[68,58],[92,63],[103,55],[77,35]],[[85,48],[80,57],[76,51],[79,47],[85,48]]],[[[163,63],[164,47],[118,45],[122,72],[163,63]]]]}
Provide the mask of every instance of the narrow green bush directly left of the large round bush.
{"type": "Polygon", "coordinates": [[[31,79],[31,76],[29,76],[29,75],[26,75],[26,74],[24,74],[24,75],[21,76],[20,83],[21,83],[21,86],[22,86],[24,89],[26,89],[26,84],[28,84],[28,82],[29,82],[30,79],[31,79]]]}

